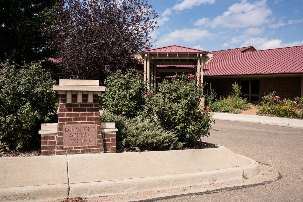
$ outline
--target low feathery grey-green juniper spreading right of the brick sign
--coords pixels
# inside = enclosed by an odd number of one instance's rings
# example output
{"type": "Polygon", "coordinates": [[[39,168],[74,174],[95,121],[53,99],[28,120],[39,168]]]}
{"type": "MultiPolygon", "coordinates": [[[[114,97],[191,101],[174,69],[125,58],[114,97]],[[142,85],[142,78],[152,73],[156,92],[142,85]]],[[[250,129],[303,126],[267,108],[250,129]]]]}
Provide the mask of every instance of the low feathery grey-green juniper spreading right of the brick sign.
{"type": "Polygon", "coordinates": [[[118,150],[142,151],[180,149],[183,143],[178,142],[174,131],[166,131],[158,121],[142,117],[127,118],[105,111],[100,115],[101,121],[115,121],[118,150]]]}

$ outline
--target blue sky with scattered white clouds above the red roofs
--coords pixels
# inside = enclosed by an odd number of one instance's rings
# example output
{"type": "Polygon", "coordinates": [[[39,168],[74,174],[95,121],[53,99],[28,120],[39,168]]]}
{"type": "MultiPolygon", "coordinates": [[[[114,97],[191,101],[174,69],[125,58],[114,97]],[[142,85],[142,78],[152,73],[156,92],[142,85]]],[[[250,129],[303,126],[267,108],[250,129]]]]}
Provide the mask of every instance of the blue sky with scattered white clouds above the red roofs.
{"type": "Polygon", "coordinates": [[[158,12],[156,47],[207,51],[303,45],[303,0],[149,0],[158,12]]]}

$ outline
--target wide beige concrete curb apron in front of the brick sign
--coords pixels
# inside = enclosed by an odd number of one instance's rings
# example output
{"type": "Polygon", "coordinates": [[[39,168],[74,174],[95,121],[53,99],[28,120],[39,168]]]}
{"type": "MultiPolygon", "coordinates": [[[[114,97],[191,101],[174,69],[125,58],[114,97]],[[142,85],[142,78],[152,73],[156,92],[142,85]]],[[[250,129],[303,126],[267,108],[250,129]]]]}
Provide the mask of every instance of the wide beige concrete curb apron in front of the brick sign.
{"type": "Polygon", "coordinates": [[[3,182],[0,201],[125,194],[259,174],[257,162],[223,146],[141,153],[7,157],[0,158],[0,163],[3,182]]]}

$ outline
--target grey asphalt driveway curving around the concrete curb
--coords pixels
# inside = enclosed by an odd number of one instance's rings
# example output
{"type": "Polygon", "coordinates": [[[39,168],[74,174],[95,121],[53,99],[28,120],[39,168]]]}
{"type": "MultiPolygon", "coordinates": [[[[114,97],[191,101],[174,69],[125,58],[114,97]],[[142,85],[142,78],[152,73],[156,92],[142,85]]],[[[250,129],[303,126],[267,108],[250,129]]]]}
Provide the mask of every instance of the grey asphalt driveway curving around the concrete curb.
{"type": "Polygon", "coordinates": [[[159,201],[303,201],[303,130],[217,120],[202,139],[270,165],[282,176],[271,184],[159,201]]]}

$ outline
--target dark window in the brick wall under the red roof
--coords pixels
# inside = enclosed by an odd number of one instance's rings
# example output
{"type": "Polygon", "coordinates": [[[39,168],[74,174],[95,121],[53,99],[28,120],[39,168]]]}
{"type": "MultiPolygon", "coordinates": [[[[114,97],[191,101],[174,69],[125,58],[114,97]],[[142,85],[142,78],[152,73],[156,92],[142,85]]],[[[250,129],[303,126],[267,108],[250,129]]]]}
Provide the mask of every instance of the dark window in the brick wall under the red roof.
{"type": "Polygon", "coordinates": [[[248,101],[260,101],[260,79],[241,79],[241,90],[248,101]]]}

